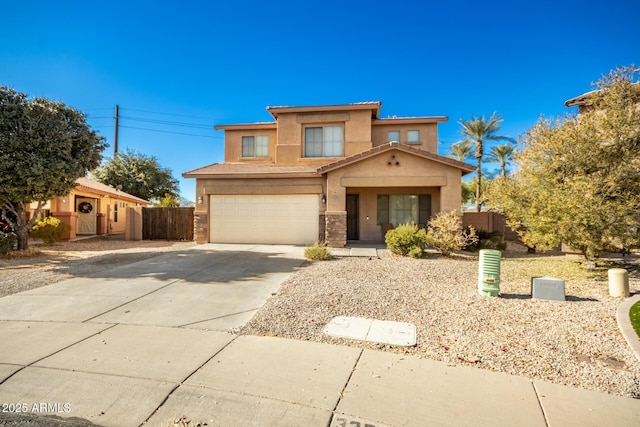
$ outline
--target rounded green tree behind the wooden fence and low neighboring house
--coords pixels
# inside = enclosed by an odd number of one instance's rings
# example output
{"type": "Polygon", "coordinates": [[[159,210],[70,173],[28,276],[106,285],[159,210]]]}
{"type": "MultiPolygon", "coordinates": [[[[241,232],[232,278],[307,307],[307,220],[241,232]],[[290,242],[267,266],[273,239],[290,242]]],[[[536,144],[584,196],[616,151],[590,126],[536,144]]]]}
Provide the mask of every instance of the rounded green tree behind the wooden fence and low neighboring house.
{"type": "Polygon", "coordinates": [[[93,171],[97,181],[117,187],[145,200],[178,197],[178,181],[171,170],[162,168],[155,157],[127,150],[93,171]]]}

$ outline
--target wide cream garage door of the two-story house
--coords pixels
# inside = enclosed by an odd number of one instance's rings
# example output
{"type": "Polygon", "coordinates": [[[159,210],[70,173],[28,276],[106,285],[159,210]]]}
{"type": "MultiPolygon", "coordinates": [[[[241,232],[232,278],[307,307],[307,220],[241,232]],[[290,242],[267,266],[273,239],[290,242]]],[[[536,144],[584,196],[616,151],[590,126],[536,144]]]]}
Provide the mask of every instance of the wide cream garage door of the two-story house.
{"type": "Polygon", "coordinates": [[[318,196],[211,196],[212,243],[303,245],[318,240],[318,196]]]}

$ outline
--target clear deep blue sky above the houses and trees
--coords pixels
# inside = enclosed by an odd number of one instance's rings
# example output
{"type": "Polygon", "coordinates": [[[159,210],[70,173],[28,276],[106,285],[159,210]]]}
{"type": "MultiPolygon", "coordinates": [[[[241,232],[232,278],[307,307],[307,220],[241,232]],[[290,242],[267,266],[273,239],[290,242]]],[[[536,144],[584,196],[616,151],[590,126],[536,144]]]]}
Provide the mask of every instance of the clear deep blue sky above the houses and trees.
{"type": "Polygon", "coordinates": [[[381,116],[496,111],[517,137],[619,65],[640,65],[640,2],[30,1],[3,4],[0,85],[89,115],[113,156],[182,173],[223,161],[215,124],[267,105],[382,101],[381,116]],[[446,4],[445,4],[446,3],[446,4]],[[160,114],[158,114],[160,113],[160,114]],[[172,122],[172,123],[168,123],[172,122]],[[144,130],[143,130],[144,129],[144,130]],[[194,136],[198,135],[198,136],[194,136]]]}

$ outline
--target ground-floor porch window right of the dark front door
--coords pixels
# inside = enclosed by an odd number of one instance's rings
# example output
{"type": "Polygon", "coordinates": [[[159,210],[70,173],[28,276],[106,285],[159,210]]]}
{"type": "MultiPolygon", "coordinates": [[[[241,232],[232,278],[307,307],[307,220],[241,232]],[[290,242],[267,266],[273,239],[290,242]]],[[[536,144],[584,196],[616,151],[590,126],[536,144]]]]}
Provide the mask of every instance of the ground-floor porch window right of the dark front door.
{"type": "Polygon", "coordinates": [[[430,194],[378,194],[378,225],[426,224],[430,217],[430,194]]]}

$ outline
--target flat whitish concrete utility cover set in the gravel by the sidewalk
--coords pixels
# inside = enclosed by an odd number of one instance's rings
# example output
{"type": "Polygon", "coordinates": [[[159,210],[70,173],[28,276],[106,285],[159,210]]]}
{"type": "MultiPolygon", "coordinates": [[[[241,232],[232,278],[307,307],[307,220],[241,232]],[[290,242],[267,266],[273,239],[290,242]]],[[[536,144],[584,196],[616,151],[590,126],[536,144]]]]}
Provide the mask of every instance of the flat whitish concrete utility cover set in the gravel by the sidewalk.
{"type": "Polygon", "coordinates": [[[371,341],[402,347],[416,345],[416,327],[411,323],[338,316],[325,326],[324,333],[334,338],[371,341]]]}

